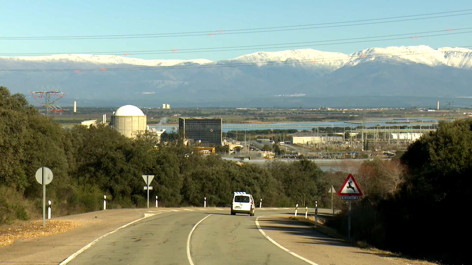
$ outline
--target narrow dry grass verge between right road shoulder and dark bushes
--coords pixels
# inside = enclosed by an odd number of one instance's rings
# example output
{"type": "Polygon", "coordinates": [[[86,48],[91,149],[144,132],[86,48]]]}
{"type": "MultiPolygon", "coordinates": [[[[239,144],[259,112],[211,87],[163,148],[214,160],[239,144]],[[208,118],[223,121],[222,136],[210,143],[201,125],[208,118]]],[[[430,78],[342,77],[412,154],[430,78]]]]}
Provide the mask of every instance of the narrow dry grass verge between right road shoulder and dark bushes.
{"type": "Polygon", "coordinates": [[[367,252],[370,252],[370,253],[373,253],[373,254],[377,254],[379,256],[384,257],[385,259],[394,261],[394,262],[396,262],[398,264],[401,264],[401,265],[439,265],[439,263],[432,263],[432,262],[428,262],[428,261],[409,259],[408,257],[404,257],[404,256],[402,256],[401,254],[398,254],[398,253],[392,253],[392,252],[389,252],[389,251],[384,251],[384,250],[381,250],[381,249],[377,249],[377,248],[367,244],[364,241],[356,241],[356,242],[347,241],[345,236],[339,234],[335,229],[326,226],[324,224],[324,220],[322,220],[321,218],[318,218],[318,225],[317,226],[315,226],[315,217],[313,217],[313,216],[310,216],[307,219],[305,219],[305,217],[302,217],[302,216],[297,216],[297,217],[290,216],[288,218],[299,221],[299,222],[302,222],[302,223],[310,226],[311,228],[315,229],[317,232],[319,232],[321,234],[324,234],[325,236],[328,236],[330,238],[337,238],[337,239],[343,240],[344,242],[346,242],[348,244],[351,244],[354,247],[358,247],[358,248],[360,248],[364,251],[367,251],[367,252]]]}

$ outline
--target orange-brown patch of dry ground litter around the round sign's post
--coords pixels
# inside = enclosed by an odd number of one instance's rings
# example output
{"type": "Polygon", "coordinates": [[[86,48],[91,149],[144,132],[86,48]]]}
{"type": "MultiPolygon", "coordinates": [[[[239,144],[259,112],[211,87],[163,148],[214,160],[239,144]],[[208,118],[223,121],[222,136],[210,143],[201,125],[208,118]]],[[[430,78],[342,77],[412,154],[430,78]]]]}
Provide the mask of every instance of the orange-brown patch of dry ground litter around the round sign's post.
{"type": "Polygon", "coordinates": [[[14,225],[0,226],[0,247],[11,245],[19,238],[37,238],[56,235],[79,227],[78,222],[63,220],[42,220],[16,222],[14,225]]]}

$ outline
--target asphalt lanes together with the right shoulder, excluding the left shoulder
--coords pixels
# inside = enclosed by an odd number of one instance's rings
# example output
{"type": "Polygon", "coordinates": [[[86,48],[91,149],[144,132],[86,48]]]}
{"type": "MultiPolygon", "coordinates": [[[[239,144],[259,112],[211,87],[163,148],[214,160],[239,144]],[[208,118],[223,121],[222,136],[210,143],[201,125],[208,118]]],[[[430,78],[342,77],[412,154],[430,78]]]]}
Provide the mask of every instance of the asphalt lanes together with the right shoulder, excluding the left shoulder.
{"type": "Polygon", "coordinates": [[[254,217],[233,216],[229,209],[161,212],[101,238],[67,264],[394,264],[336,239],[320,239],[313,229],[278,217],[286,213],[293,210],[257,209],[254,217]],[[303,256],[296,257],[297,252],[303,256]]]}

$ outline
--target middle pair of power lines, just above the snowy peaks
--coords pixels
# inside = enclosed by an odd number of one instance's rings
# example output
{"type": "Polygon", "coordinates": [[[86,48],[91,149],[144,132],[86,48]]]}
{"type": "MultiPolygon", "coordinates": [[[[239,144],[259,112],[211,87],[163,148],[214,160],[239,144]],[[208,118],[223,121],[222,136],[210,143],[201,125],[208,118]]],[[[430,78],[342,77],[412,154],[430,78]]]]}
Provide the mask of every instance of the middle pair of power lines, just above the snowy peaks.
{"type": "MultiPolygon", "coordinates": [[[[395,38],[395,39],[409,39],[410,36],[413,37],[429,37],[429,36],[438,36],[438,35],[449,35],[449,34],[462,34],[462,33],[470,33],[467,32],[456,32],[453,31],[458,30],[465,30],[465,29],[472,29],[472,27],[464,27],[464,28],[456,28],[456,29],[443,29],[443,30],[434,30],[434,31],[423,31],[423,32],[413,32],[413,33],[402,33],[402,34],[394,34],[394,35],[383,35],[383,36],[371,36],[371,37],[359,37],[359,38],[347,38],[347,39],[335,39],[335,40],[323,40],[323,41],[309,41],[309,42],[292,42],[292,43],[278,43],[278,44],[260,44],[260,45],[246,45],[246,46],[230,46],[230,47],[214,47],[214,48],[193,48],[193,49],[179,49],[178,53],[206,53],[206,52],[226,52],[226,51],[240,51],[240,50],[254,50],[254,49],[275,49],[275,48],[287,48],[286,45],[294,45],[294,44],[315,44],[315,43],[323,43],[323,42],[334,42],[334,41],[349,41],[349,40],[361,40],[361,39],[374,39],[374,38],[386,38],[386,37],[396,37],[396,36],[406,36],[406,38],[395,38]],[[438,35],[426,35],[426,36],[417,36],[417,34],[426,34],[426,33],[437,33],[437,32],[448,32],[444,34],[438,35]],[[268,46],[281,46],[283,47],[268,47],[268,46]],[[248,49],[236,49],[236,48],[248,48],[248,49]],[[224,50],[221,50],[224,49],[224,50]]],[[[394,40],[394,39],[384,39],[384,40],[394,40]]],[[[382,40],[369,40],[369,41],[382,41],[382,40]]],[[[367,42],[367,41],[365,41],[367,42]]],[[[332,45],[332,44],[346,44],[351,42],[342,42],[342,43],[329,43],[324,45],[332,45]]],[[[307,46],[318,46],[318,45],[307,45],[307,46]]],[[[292,46],[290,46],[292,47],[292,46]]],[[[300,47],[300,46],[295,46],[300,47]]],[[[79,54],[107,54],[107,55],[114,55],[114,54],[123,54],[127,53],[128,55],[142,55],[142,54],[165,54],[165,53],[176,53],[173,50],[153,50],[153,51],[121,51],[121,52],[82,52],[79,54]]],[[[51,55],[51,54],[78,54],[78,53],[0,53],[0,55],[6,56],[25,56],[25,55],[51,55]]]]}

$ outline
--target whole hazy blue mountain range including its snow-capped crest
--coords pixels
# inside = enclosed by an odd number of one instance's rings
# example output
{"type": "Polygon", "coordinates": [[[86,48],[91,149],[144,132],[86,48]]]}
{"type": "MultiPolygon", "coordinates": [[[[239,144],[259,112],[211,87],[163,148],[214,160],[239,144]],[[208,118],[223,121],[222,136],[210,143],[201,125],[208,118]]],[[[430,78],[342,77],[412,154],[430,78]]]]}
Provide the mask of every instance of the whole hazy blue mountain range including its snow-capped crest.
{"type": "Polygon", "coordinates": [[[308,99],[354,95],[472,96],[472,50],[464,48],[402,46],[352,54],[300,49],[220,61],[145,60],[128,55],[0,57],[0,85],[15,93],[59,85],[70,101],[75,98],[113,106],[160,106],[161,101],[174,106],[241,106],[251,101],[274,106],[289,100],[298,104],[313,102],[308,99]],[[148,71],[113,71],[115,68],[148,71]],[[46,69],[70,71],[41,71],[46,69]],[[85,71],[98,69],[104,71],[85,71]],[[275,97],[292,94],[305,96],[275,97]]]}

